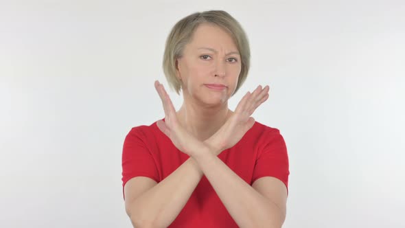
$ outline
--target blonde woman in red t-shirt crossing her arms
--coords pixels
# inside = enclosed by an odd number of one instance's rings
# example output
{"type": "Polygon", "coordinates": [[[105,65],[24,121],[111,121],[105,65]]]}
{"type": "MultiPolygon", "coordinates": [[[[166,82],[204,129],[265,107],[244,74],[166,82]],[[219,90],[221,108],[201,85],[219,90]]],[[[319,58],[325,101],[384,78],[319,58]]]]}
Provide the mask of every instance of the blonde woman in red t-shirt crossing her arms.
{"type": "Polygon", "coordinates": [[[269,87],[228,100],[246,79],[250,51],[242,27],[224,11],[191,14],[167,37],[163,69],[184,102],[176,111],[154,87],[165,118],[132,128],[122,181],[135,227],[281,227],[288,155],[279,130],[255,122],[269,87]]]}

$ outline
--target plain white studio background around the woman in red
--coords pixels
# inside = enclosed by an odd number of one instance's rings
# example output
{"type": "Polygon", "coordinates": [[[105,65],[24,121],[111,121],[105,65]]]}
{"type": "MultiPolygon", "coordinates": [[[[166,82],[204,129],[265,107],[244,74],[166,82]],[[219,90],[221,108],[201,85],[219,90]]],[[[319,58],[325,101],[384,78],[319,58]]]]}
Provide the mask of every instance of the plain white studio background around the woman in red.
{"type": "MultiPolygon", "coordinates": [[[[405,227],[404,1],[1,1],[0,227],[131,227],[121,155],[163,117],[178,20],[226,10],[290,156],[283,227],[405,227]]],[[[170,92],[176,108],[182,98],[170,92]]]]}

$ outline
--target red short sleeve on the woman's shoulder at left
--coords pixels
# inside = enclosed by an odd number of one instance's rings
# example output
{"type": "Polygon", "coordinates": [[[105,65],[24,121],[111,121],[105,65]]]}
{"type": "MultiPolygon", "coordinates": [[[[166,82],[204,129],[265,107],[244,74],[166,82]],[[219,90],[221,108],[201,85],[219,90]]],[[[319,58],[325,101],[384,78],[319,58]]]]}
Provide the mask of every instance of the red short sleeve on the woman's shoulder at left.
{"type": "Polygon", "coordinates": [[[148,149],[146,136],[139,127],[132,128],[122,149],[122,192],[127,181],[135,176],[147,176],[159,183],[159,173],[148,149]]]}

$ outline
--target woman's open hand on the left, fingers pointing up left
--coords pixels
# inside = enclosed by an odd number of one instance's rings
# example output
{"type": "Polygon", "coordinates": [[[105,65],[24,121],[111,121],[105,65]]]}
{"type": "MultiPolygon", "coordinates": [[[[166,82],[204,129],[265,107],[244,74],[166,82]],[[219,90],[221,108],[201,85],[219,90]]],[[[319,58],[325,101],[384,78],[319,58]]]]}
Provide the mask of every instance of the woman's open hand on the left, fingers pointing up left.
{"type": "Polygon", "coordinates": [[[170,100],[169,95],[167,95],[163,84],[156,81],[154,82],[154,87],[159,93],[165,111],[165,121],[159,120],[157,122],[158,128],[167,135],[170,140],[172,140],[174,146],[176,146],[178,150],[193,157],[194,153],[200,151],[200,148],[203,148],[205,144],[196,139],[196,137],[190,135],[185,128],[178,124],[176,110],[174,109],[172,100],[170,100]]]}

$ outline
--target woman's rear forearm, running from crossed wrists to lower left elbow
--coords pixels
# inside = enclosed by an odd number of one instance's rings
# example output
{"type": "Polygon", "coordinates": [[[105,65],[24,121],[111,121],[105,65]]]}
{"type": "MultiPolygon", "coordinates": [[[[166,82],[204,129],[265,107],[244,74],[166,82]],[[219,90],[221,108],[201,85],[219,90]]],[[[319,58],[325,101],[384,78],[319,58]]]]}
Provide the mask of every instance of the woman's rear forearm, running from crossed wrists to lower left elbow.
{"type": "Polygon", "coordinates": [[[130,209],[132,223],[139,227],[168,227],[202,177],[203,172],[190,157],[163,181],[135,199],[130,209]]]}

